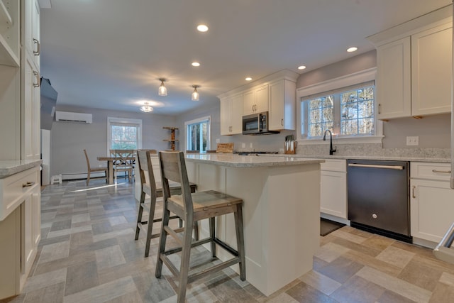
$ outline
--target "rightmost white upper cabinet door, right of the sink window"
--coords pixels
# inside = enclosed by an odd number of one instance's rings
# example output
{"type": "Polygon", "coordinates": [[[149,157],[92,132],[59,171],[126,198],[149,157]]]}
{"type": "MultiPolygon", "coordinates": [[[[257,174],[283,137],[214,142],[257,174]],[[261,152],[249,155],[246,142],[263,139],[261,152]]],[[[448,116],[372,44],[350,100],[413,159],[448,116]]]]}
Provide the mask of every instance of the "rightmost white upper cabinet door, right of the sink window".
{"type": "Polygon", "coordinates": [[[451,110],[453,30],[450,23],[411,36],[411,114],[451,110]]]}

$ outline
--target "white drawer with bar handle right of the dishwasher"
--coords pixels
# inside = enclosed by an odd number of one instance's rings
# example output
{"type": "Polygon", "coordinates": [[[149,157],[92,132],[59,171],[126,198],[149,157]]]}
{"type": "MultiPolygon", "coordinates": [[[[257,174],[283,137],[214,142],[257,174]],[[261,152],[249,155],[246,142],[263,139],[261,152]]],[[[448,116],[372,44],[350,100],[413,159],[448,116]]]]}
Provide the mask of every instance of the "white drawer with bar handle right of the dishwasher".
{"type": "Polygon", "coordinates": [[[411,162],[410,177],[412,179],[428,179],[449,181],[450,163],[411,162]]]}

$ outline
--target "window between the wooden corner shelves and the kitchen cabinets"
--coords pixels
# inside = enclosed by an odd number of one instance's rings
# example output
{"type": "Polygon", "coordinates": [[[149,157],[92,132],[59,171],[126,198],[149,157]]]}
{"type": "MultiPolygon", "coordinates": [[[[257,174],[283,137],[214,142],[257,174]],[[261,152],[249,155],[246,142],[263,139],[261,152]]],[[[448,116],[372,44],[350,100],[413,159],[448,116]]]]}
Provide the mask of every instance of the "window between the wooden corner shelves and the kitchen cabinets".
{"type": "Polygon", "coordinates": [[[210,127],[211,119],[209,116],[187,121],[186,126],[186,149],[199,150],[205,152],[210,147],[210,127]]]}

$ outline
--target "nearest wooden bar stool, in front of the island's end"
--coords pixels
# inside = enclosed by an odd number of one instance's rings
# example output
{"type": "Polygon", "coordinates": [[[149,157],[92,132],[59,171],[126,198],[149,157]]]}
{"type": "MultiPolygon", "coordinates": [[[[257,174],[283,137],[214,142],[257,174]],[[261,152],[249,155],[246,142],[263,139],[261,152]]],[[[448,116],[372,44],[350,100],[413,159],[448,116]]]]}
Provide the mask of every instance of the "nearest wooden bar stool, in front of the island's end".
{"type": "Polygon", "coordinates": [[[177,290],[177,302],[184,302],[186,297],[187,283],[209,275],[211,272],[228,268],[231,265],[239,263],[240,279],[246,279],[245,272],[245,253],[244,253],[244,236],[243,236],[243,200],[232,197],[228,194],[215,192],[213,190],[206,192],[191,193],[189,180],[187,177],[184,154],[182,152],[160,152],[160,168],[162,177],[162,189],[164,190],[164,210],[162,214],[162,228],[159,241],[159,251],[157,254],[155,276],[160,277],[162,272],[162,263],[177,277],[179,281],[177,290]],[[169,182],[179,182],[182,187],[182,194],[172,194],[169,182]],[[169,227],[170,212],[176,214],[184,221],[184,231],[182,237],[177,231],[169,227]],[[233,213],[235,216],[236,241],[238,250],[228,246],[227,243],[216,238],[215,217],[223,214],[233,213]],[[192,241],[192,226],[194,221],[209,219],[210,236],[209,238],[199,241],[192,241]],[[175,238],[179,247],[165,250],[167,234],[175,238]],[[191,248],[204,243],[211,243],[211,255],[216,258],[216,244],[224,248],[233,258],[223,263],[218,263],[211,268],[194,272],[189,275],[189,256],[191,248]],[[179,270],[170,261],[167,255],[181,251],[181,263],[179,270]]]}

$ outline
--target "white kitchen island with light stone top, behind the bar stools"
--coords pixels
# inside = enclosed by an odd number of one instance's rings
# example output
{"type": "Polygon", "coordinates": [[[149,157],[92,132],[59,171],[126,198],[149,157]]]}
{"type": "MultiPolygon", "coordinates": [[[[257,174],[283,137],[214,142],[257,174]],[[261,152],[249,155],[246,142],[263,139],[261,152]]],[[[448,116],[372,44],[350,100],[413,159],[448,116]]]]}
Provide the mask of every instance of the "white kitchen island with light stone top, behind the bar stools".
{"type": "MultiPolygon", "coordinates": [[[[188,154],[189,181],[243,199],[246,280],[269,296],[312,269],[319,248],[320,163],[293,157],[188,154]]],[[[236,248],[233,215],[216,235],[236,248]]],[[[201,237],[208,223],[201,222],[201,237]]],[[[218,257],[229,258],[218,250],[218,257]]],[[[238,271],[238,265],[235,265],[238,271]]],[[[235,268],[234,267],[234,268],[235,268]]]]}

